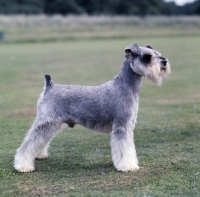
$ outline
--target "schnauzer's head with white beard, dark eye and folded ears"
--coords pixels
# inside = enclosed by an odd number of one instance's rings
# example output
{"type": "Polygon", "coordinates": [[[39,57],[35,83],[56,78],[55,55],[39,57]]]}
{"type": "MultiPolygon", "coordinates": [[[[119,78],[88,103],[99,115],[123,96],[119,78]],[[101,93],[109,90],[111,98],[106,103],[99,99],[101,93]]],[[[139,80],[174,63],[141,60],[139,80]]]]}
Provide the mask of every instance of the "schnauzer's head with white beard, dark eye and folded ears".
{"type": "Polygon", "coordinates": [[[171,72],[169,61],[150,45],[139,47],[132,43],[125,48],[125,57],[135,73],[145,76],[159,86],[162,84],[162,78],[171,72]]]}

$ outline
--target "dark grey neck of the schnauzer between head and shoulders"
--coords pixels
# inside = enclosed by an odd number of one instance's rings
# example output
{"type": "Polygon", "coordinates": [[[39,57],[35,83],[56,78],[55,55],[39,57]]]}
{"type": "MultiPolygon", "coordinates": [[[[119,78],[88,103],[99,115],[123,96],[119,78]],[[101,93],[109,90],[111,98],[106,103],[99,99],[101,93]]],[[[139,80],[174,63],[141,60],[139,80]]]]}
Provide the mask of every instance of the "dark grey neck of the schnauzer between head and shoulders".
{"type": "Polygon", "coordinates": [[[120,83],[118,83],[120,84],[120,86],[125,86],[127,88],[129,87],[130,89],[134,91],[134,93],[139,94],[140,87],[142,84],[142,76],[135,73],[132,70],[129,62],[125,60],[122,64],[120,72],[114,78],[114,81],[115,82],[120,81],[120,83]]]}

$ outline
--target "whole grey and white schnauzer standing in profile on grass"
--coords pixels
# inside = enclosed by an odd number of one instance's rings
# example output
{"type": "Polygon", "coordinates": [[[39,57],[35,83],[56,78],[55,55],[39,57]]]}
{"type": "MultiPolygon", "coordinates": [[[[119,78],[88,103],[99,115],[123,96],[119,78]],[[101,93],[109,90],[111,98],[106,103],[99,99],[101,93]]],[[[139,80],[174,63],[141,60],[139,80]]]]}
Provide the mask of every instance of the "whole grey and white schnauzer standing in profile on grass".
{"type": "Polygon", "coordinates": [[[170,73],[168,60],[150,45],[130,44],[125,60],[112,81],[100,86],[53,84],[45,75],[37,116],[15,155],[14,167],[31,172],[36,158],[48,157],[48,147],[62,125],[80,124],[111,135],[111,153],[118,171],[139,169],[133,141],[142,77],[158,86],[170,73]]]}

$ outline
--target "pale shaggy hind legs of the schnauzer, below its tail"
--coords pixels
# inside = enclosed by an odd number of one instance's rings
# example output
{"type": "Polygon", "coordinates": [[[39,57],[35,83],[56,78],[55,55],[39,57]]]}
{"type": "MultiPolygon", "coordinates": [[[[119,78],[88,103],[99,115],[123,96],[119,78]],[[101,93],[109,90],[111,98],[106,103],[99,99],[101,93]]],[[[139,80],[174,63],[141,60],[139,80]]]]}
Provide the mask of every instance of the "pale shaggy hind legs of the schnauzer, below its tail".
{"type": "Polygon", "coordinates": [[[36,119],[17,150],[14,161],[15,169],[19,172],[33,171],[35,158],[48,156],[49,142],[61,129],[61,125],[61,121],[36,119]]]}

